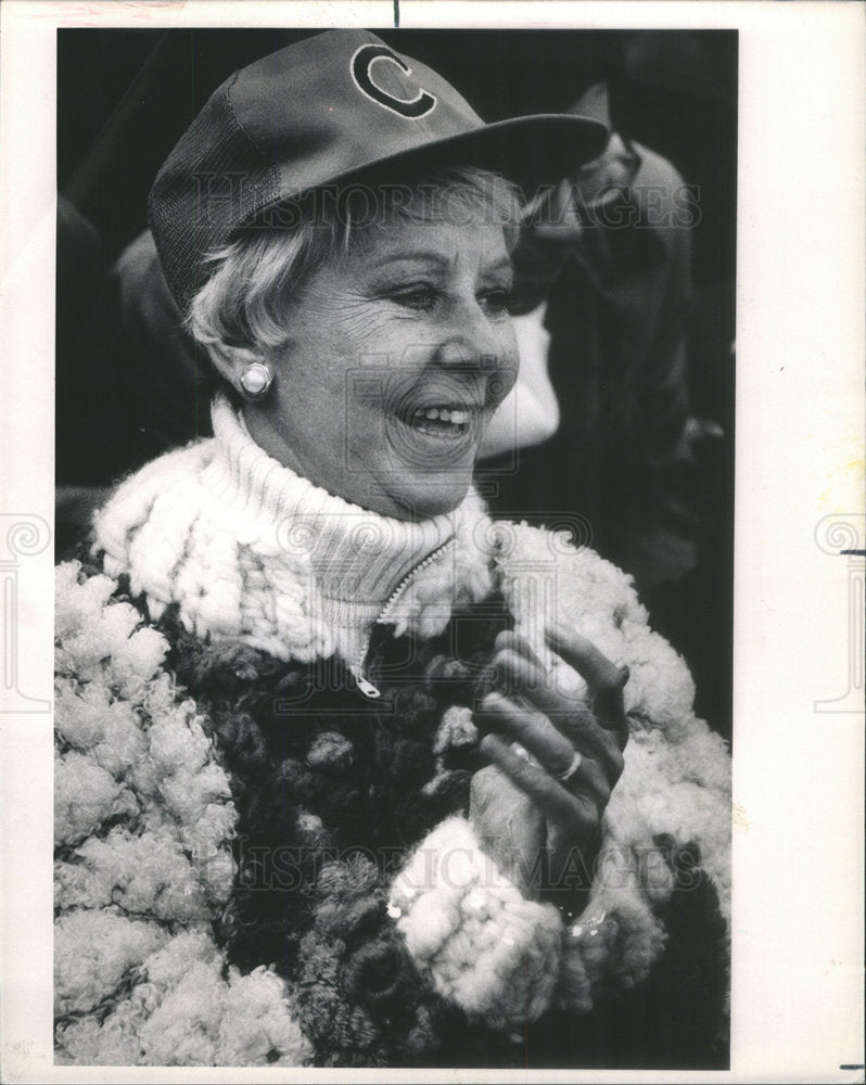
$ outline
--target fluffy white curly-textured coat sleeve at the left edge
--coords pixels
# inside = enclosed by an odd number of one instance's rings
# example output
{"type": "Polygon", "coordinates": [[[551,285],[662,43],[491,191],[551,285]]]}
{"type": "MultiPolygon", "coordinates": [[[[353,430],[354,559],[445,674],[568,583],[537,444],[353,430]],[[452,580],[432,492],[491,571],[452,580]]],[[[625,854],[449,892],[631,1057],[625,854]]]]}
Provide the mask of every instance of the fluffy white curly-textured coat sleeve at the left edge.
{"type": "Polygon", "coordinates": [[[58,569],[58,1061],[302,1065],[283,981],[241,975],[214,941],[234,875],[228,779],[165,639],[115,588],[58,569]]]}

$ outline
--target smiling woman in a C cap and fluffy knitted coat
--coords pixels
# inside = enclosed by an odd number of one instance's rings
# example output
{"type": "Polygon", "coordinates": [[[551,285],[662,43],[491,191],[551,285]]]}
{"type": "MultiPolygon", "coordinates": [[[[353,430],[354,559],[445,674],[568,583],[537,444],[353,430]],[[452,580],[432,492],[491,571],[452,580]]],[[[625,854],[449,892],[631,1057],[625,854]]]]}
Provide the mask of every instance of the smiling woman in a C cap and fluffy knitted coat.
{"type": "Polygon", "coordinates": [[[628,580],[471,485],[518,363],[491,170],[602,140],[331,31],[161,170],[215,436],[59,572],[64,1061],[711,1058],[724,744],[628,580]]]}

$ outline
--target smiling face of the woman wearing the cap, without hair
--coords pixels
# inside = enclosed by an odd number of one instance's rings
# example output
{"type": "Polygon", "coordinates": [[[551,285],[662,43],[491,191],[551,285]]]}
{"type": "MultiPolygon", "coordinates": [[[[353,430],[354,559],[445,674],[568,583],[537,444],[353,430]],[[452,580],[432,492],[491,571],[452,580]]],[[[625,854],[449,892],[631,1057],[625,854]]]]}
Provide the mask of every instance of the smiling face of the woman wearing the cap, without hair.
{"type": "Polygon", "coordinates": [[[268,398],[245,408],[254,439],[375,512],[455,508],[517,378],[511,286],[502,229],[477,215],[353,234],[288,306],[268,398]]]}

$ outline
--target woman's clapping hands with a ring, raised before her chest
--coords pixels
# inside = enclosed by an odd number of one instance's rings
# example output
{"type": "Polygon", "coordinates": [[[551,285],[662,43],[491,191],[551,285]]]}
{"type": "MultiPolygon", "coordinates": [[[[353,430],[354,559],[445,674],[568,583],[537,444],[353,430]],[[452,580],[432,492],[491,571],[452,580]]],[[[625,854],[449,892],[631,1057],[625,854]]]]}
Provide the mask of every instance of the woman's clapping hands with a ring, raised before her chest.
{"type": "Polygon", "coordinates": [[[470,820],[524,895],[562,890],[560,903],[580,907],[575,892],[588,890],[601,815],[623,770],[628,668],[564,628],[547,640],[586,689],[563,689],[523,637],[499,634],[494,664],[505,693],[489,693],[476,715],[492,764],[472,779],[470,820]]]}

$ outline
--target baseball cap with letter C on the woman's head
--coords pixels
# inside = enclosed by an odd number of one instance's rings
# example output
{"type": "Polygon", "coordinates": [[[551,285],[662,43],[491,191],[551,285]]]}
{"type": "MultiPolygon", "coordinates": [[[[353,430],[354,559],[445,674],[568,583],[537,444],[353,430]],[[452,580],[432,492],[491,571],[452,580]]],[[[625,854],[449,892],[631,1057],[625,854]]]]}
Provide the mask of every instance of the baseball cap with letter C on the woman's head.
{"type": "Polygon", "coordinates": [[[311,189],[429,162],[500,173],[532,195],[600,154],[607,136],[574,115],[486,125],[425,64],[368,30],[328,30],[217,88],[160,169],[148,218],[186,312],[211,253],[311,189]]]}

